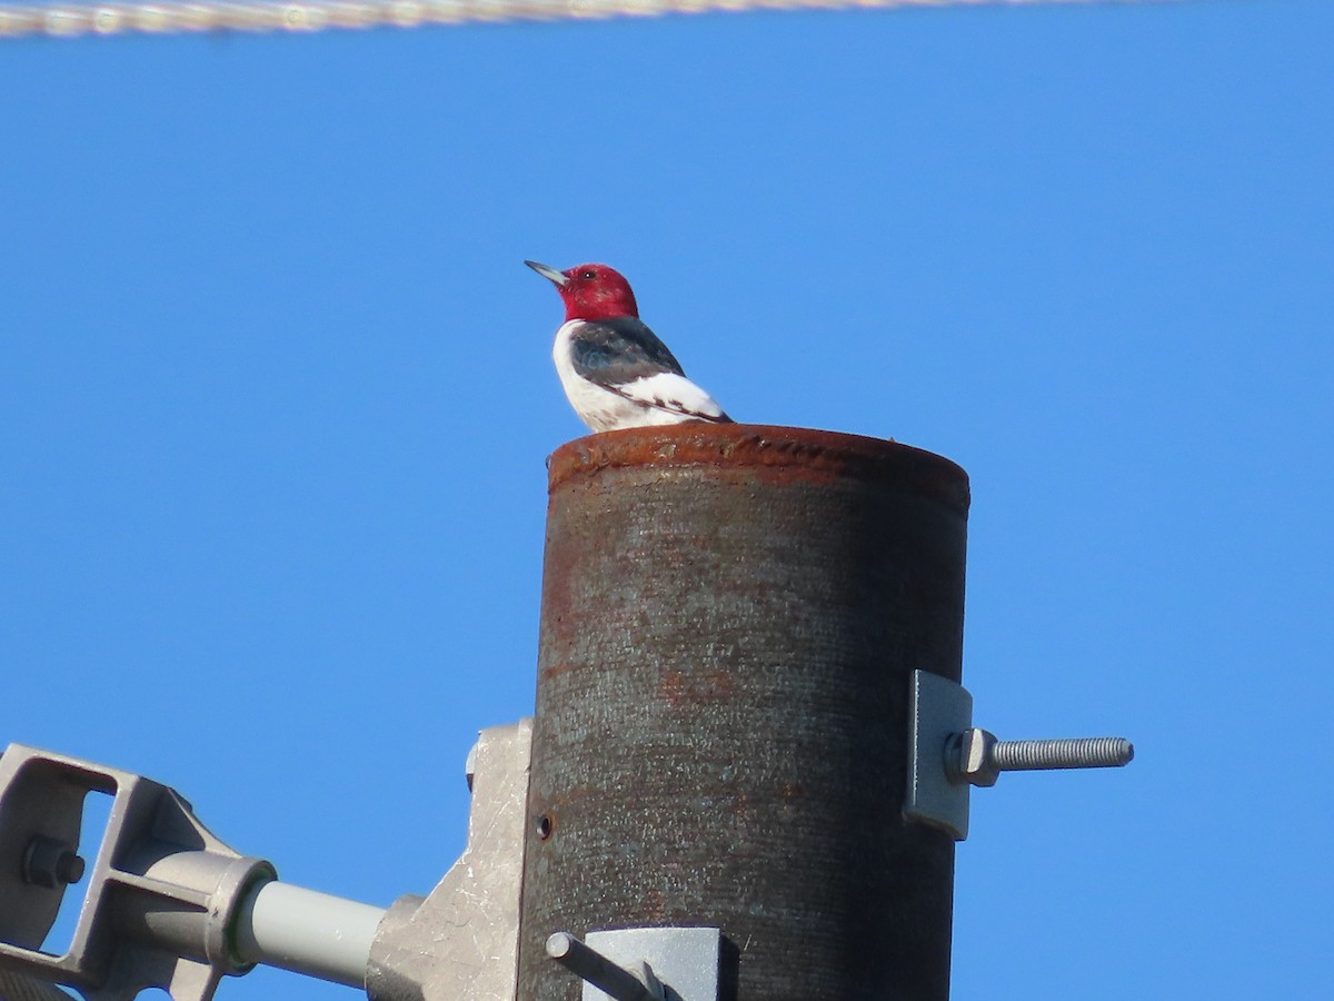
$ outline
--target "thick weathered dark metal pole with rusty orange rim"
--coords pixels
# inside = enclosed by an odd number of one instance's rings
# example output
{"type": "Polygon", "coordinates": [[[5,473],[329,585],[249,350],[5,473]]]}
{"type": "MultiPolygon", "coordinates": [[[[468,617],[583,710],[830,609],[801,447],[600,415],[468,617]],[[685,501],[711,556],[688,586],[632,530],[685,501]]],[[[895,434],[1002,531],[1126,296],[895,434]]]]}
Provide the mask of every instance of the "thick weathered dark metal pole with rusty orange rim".
{"type": "Polygon", "coordinates": [[[570,930],[712,925],[723,998],[942,1001],[954,841],[904,819],[959,679],[967,476],[878,439],[636,428],[550,463],[523,1001],[570,930]]]}

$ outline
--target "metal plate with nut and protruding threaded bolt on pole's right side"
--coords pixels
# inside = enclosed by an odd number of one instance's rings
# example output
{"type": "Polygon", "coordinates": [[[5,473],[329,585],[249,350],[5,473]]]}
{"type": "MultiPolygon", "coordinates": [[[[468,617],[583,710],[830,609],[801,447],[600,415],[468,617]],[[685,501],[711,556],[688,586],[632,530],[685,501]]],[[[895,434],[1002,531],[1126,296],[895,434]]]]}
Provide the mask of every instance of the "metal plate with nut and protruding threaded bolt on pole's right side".
{"type": "Polygon", "coordinates": [[[972,695],[927,671],[912,673],[908,785],[903,813],[968,837],[968,789],[994,786],[1002,771],[1122,767],[1135,757],[1123,737],[999,741],[972,726],[972,695]]]}

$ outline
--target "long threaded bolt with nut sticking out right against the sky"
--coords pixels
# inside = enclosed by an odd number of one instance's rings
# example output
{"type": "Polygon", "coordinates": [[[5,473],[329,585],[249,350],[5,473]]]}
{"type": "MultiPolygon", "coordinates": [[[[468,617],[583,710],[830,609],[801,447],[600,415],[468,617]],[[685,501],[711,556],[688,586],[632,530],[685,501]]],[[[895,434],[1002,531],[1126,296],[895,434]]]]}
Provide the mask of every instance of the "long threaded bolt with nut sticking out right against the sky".
{"type": "Polygon", "coordinates": [[[1111,769],[1129,765],[1135,747],[1125,737],[1077,737],[1063,741],[998,741],[971,727],[946,747],[950,781],[994,786],[1002,771],[1039,769],[1111,769]]]}

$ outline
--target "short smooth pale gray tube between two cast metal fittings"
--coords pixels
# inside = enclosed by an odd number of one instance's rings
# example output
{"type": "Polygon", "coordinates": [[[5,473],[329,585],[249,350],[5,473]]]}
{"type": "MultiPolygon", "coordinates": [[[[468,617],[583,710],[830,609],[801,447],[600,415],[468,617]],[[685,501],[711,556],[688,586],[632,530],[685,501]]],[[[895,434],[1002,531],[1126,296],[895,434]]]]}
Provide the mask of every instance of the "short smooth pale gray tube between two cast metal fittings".
{"type": "Polygon", "coordinates": [[[384,914],[367,904],[265,882],[237,909],[236,950],[245,962],[364,988],[371,942],[384,914]]]}

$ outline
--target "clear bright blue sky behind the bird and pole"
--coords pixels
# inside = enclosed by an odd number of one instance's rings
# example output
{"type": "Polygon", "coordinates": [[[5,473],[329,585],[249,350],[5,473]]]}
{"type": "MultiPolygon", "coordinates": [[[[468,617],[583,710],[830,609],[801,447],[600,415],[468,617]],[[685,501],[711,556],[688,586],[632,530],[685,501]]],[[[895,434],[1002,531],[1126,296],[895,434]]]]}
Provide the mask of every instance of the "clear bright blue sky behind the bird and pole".
{"type": "Polygon", "coordinates": [[[0,44],[0,742],[430,890],[532,709],[583,432],[520,262],[604,260],[734,416],[968,470],[980,725],[1135,741],[974,794],[954,997],[1326,997],[1331,39],[1218,0],[0,44]]]}

